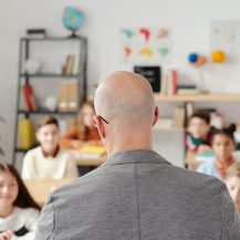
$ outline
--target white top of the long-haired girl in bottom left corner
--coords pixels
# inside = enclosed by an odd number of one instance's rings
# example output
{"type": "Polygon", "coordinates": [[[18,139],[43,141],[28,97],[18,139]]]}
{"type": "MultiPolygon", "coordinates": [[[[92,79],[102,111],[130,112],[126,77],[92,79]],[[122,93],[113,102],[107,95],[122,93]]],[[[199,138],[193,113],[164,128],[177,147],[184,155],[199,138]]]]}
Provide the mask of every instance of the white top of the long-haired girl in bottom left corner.
{"type": "Polygon", "coordinates": [[[39,216],[39,210],[34,208],[14,207],[10,216],[0,218],[0,231],[12,230],[14,232],[25,227],[29,230],[28,233],[22,237],[13,234],[11,240],[34,240],[39,216]]]}

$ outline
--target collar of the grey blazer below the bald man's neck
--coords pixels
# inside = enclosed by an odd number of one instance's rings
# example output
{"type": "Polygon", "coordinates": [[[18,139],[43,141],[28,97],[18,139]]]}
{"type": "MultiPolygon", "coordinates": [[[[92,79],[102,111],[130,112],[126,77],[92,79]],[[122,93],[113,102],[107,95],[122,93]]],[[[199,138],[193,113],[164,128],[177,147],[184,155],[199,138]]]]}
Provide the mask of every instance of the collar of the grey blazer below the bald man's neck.
{"type": "Polygon", "coordinates": [[[125,164],[168,164],[165,158],[163,158],[159,154],[154,150],[148,149],[135,149],[135,150],[126,150],[118,152],[106,159],[106,161],[101,165],[104,166],[114,166],[114,165],[125,165],[125,164]]]}

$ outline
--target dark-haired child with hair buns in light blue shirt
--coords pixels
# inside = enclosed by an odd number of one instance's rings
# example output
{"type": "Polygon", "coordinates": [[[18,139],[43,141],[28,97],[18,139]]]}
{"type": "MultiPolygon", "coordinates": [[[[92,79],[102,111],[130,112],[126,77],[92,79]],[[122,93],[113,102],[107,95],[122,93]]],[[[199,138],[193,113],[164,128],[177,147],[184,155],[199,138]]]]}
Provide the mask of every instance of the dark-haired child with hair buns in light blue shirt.
{"type": "Polygon", "coordinates": [[[212,152],[215,159],[202,163],[198,171],[223,179],[227,168],[234,163],[232,152],[234,150],[233,132],[236,126],[232,124],[229,128],[216,129],[212,135],[212,152]]]}

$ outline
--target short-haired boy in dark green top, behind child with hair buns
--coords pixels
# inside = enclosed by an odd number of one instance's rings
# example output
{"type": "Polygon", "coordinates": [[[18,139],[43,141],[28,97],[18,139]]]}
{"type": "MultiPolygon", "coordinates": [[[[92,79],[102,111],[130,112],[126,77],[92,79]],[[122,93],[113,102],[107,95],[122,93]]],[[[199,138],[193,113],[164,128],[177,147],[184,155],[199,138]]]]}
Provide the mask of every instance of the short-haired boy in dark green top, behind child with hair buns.
{"type": "Polygon", "coordinates": [[[211,126],[210,115],[205,111],[196,111],[189,119],[186,134],[186,158],[188,168],[195,170],[199,163],[195,159],[196,154],[211,152],[211,126]]]}

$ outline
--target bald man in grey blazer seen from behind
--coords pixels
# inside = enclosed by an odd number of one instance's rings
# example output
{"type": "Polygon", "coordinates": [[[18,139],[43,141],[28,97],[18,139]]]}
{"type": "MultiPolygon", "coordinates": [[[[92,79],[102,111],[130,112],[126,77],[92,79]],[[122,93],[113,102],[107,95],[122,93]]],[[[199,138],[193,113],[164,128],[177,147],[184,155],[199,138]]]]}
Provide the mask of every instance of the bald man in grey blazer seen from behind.
{"type": "Polygon", "coordinates": [[[108,158],[49,197],[36,240],[240,239],[225,184],[153,150],[158,108],[144,77],[114,72],[97,87],[94,104],[108,158]]]}

